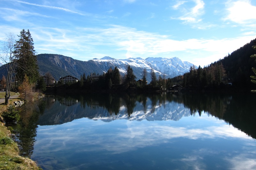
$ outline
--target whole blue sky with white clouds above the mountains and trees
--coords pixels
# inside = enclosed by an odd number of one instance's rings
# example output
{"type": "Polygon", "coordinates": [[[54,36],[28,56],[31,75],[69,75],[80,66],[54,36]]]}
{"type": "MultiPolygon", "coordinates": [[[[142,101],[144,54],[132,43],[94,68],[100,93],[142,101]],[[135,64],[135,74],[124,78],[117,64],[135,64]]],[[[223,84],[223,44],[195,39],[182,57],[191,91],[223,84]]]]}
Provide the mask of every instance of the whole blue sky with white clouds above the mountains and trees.
{"type": "Polygon", "coordinates": [[[179,57],[208,65],[256,38],[254,0],[0,0],[0,40],[87,61],[179,57]]]}

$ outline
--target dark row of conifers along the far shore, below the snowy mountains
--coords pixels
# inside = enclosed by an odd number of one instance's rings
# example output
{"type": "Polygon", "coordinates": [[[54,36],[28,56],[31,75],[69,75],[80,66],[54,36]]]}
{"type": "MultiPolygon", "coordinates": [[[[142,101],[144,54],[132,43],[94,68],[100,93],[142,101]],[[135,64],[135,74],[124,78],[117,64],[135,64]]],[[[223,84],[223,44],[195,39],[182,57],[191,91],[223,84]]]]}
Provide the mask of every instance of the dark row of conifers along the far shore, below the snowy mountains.
{"type": "MultiPolygon", "coordinates": [[[[49,73],[47,73],[49,74],[49,73]]],[[[55,90],[83,90],[83,91],[166,91],[173,85],[171,78],[165,79],[165,76],[156,78],[152,69],[150,72],[151,81],[147,81],[148,72],[144,69],[141,73],[141,79],[136,81],[132,68],[128,65],[125,75],[122,77],[117,67],[110,67],[106,73],[101,75],[92,73],[92,75],[80,75],[77,83],[58,81],[55,90]],[[56,88],[57,87],[57,88],[56,88]]],[[[49,77],[49,76],[48,76],[49,77]]],[[[52,77],[52,76],[51,76],[52,77]]],[[[52,77],[53,78],[53,77],[52,77]]],[[[50,88],[52,90],[52,88],[50,88]]]]}

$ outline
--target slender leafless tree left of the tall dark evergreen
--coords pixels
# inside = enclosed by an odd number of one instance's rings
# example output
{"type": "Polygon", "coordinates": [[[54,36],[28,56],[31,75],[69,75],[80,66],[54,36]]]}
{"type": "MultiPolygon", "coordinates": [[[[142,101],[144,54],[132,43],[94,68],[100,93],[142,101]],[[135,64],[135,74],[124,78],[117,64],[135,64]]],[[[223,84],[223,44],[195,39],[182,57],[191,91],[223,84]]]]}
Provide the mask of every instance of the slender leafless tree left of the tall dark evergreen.
{"type": "Polygon", "coordinates": [[[10,90],[12,80],[14,78],[14,71],[17,65],[17,57],[13,55],[15,44],[15,36],[13,33],[6,34],[6,38],[1,47],[0,60],[5,65],[7,71],[6,78],[6,91],[5,91],[5,104],[8,104],[8,100],[10,99],[10,90]]]}

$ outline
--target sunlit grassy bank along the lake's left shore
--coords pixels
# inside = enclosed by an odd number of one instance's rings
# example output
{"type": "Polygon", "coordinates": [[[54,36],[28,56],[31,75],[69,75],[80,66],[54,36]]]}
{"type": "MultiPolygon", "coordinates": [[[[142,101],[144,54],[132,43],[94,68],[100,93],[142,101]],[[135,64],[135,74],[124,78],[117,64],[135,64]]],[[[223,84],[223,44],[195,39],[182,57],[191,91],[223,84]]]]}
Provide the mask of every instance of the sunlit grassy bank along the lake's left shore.
{"type": "MultiPolygon", "coordinates": [[[[0,98],[4,98],[5,93],[0,92],[0,98]]],[[[11,96],[17,95],[11,93],[11,96]]],[[[9,100],[9,104],[19,99],[9,100]]],[[[0,104],[0,115],[8,105],[0,104]]],[[[2,117],[1,117],[2,118],[2,117]]],[[[28,158],[19,156],[18,145],[11,139],[11,131],[0,122],[0,170],[40,170],[36,163],[28,158]]]]}

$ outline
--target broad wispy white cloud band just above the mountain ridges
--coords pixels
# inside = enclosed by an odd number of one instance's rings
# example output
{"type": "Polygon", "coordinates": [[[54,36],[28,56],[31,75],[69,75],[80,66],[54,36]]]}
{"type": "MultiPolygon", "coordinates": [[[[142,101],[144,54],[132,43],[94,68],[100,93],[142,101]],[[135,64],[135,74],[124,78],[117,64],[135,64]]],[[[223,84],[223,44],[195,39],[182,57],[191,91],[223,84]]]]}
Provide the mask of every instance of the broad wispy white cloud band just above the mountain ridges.
{"type": "Polygon", "coordinates": [[[174,57],[176,52],[183,51],[184,56],[177,57],[197,66],[217,61],[228,52],[233,52],[255,38],[255,34],[251,33],[229,39],[176,40],[167,35],[117,25],[111,25],[106,29],[77,27],[73,30],[39,27],[36,30],[33,29],[32,35],[36,42],[35,48],[39,53],[47,53],[47,50],[42,49],[49,49],[51,52],[55,50],[57,54],[64,53],[71,57],[91,56],[95,58],[100,57],[101,53],[102,56],[111,54],[112,57],[118,58],[125,55],[143,58],[159,55],[174,57]],[[97,50],[98,46],[101,47],[101,52],[97,50]],[[105,49],[103,50],[102,47],[105,49]],[[67,49],[73,49],[76,52],[72,54],[67,49]],[[94,56],[95,51],[97,51],[97,56],[94,56]]]}

